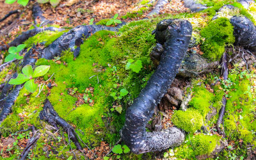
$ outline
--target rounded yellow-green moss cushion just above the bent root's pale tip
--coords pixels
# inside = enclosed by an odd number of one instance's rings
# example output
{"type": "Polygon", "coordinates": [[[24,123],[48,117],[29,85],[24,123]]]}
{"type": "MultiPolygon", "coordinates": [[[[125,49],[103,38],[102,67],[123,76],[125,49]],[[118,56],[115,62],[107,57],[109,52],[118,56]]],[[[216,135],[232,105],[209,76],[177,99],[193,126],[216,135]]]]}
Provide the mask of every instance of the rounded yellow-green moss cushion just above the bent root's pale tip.
{"type": "Polygon", "coordinates": [[[176,111],[172,116],[174,125],[186,132],[195,132],[202,127],[204,119],[195,109],[176,111]]]}

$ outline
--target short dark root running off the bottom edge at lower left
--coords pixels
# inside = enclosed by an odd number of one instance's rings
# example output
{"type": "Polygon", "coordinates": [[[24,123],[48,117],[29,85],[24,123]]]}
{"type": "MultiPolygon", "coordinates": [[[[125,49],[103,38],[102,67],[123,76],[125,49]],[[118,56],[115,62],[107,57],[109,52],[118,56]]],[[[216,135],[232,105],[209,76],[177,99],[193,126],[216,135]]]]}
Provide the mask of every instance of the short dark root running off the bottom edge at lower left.
{"type": "Polygon", "coordinates": [[[36,141],[40,138],[40,132],[36,131],[35,127],[32,126],[33,137],[30,138],[26,147],[20,154],[20,160],[25,160],[31,149],[36,145],[36,141]]]}

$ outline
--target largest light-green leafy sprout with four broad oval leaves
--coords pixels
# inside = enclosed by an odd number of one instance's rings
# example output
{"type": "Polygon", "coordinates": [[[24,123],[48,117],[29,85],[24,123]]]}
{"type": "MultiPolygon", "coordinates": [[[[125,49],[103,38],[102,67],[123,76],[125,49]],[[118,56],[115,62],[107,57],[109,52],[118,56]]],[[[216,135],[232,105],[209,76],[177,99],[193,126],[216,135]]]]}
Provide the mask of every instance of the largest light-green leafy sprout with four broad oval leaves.
{"type": "Polygon", "coordinates": [[[25,83],[24,86],[26,90],[28,90],[31,93],[34,93],[37,90],[37,85],[34,83],[35,77],[44,76],[48,70],[50,69],[50,66],[47,65],[40,65],[35,68],[33,72],[33,68],[31,65],[26,65],[22,68],[23,74],[18,74],[18,76],[15,79],[11,79],[9,81],[9,84],[22,84],[25,83]]]}

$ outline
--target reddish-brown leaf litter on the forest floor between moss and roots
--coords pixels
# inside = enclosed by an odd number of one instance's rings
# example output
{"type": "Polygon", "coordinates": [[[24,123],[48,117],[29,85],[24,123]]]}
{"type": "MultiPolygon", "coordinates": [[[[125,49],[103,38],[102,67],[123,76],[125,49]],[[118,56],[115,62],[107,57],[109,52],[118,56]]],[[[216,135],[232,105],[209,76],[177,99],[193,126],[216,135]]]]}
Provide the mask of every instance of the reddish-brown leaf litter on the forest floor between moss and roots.
{"type": "MultiPolygon", "coordinates": [[[[8,44],[8,43],[12,42],[12,40],[15,37],[17,37],[18,35],[20,35],[22,32],[28,31],[30,28],[32,28],[33,25],[35,24],[35,21],[36,21],[36,24],[42,23],[42,22],[40,22],[40,20],[38,20],[38,19],[34,20],[32,17],[32,7],[33,7],[34,3],[35,3],[34,1],[29,2],[29,4],[26,7],[23,7],[17,3],[6,4],[6,3],[4,3],[4,0],[0,0],[0,5],[1,5],[0,19],[2,17],[4,17],[4,15],[6,15],[11,10],[19,10],[19,13],[15,13],[15,14],[11,15],[10,17],[8,17],[3,22],[0,22],[0,45],[4,45],[4,44],[8,44]]],[[[43,14],[44,17],[48,20],[52,20],[53,23],[51,24],[51,26],[58,26],[59,28],[70,29],[70,28],[74,28],[79,25],[87,25],[90,23],[91,19],[94,19],[93,24],[100,22],[100,20],[102,20],[102,19],[111,19],[111,18],[113,18],[113,16],[116,13],[118,13],[118,19],[122,20],[122,22],[132,22],[134,20],[145,19],[148,17],[148,13],[153,9],[155,4],[156,4],[156,1],[152,1],[152,3],[148,3],[148,1],[147,1],[147,3],[144,4],[143,1],[140,1],[140,0],[135,0],[135,1],[131,1],[131,0],[129,0],[129,1],[69,0],[69,1],[61,1],[60,4],[58,4],[58,6],[56,6],[56,8],[53,8],[51,6],[51,4],[49,4],[49,3],[40,4],[40,7],[42,8],[42,11],[44,12],[44,14],[43,14]],[[135,16],[134,17],[124,17],[125,15],[127,15],[127,13],[133,13],[135,16]]],[[[160,11],[160,15],[164,15],[164,14],[177,15],[179,13],[191,13],[188,8],[184,7],[184,4],[180,0],[171,0],[170,3],[164,5],[164,7],[161,8],[161,11],[160,11]]],[[[229,48],[229,49],[230,49],[230,51],[232,50],[232,52],[240,52],[239,49],[232,49],[232,48],[229,48]]],[[[203,54],[203,52],[200,51],[199,45],[196,47],[193,47],[193,49],[191,49],[191,51],[192,50],[193,50],[193,52],[196,52],[197,54],[203,54]]],[[[242,57],[239,57],[239,58],[242,59],[242,57]]],[[[252,61],[254,59],[249,58],[249,55],[247,55],[247,54],[246,54],[245,59],[248,61],[248,65],[250,65],[252,70],[255,70],[254,67],[252,66],[252,63],[253,63],[252,61]]],[[[0,55],[0,65],[3,63],[4,63],[4,54],[1,54],[0,55]]],[[[55,60],[54,63],[58,63],[58,60],[55,60]]],[[[241,67],[242,70],[240,70],[240,72],[244,72],[244,70],[246,70],[245,63],[241,66],[242,66],[241,67]]],[[[232,66],[229,65],[228,67],[230,70],[236,68],[233,65],[232,66]]],[[[219,72],[218,69],[216,69],[214,71],[219,72]]],[[[255,72],[255,71],[253,71],[253,72],[255,72]]],[[[13,73],[14,73],[14,71],[10,70],[10,72],[8,72],[7,74],[11,75],[13,73]]],[[[6,79],[6,77],[1,77],[1,78],[6,79]]],[[[186,88],[190,85],[199,86],[202,83],[202,79],[207,79],[209,77],[207,76],[207,74],[202,74],[200,78],[201,78],[201,80],[196,80],[192,84],[189,79],[183,79],[183,78],[177,77],[177,79],[175,79],[175,81],[173,82],[171,89],[168,90],[168,94],[166,94],[164,96],[164,98],[161,100],[161,103],[159,104],[159,106],[157,108],[156,113],[159,112],[161,115],[161,118],[160,118],[159,114],[156,114],[155,115],[156,117],[152,118],[152,124],[147,125],[147,129],[149,129],[150,131],[154,131],[154,127],[156,124],[160,124],[161,128],[163,128],[163,129],[172,127],[173,126],[172,121],[171,121],[172,115],[173,115],[174,111],[177,110],[177,106],[180,105],[180,100],[182,99],[182,98],[179,99],[179,97],[182,96],[182,95],[180,95],[180,92],[182,92],[181,90],[186,90],[186,88]],[[196,84],[194,84],[194,83],[196,83],[196,84]],[[170,96],[170,95],[172,95],[172,96],[170,96]],[[174,100],[175,102],[173,102],[173,99],[171,99],[171,97],[178,97],[177,99],[179,99],[179,100],[176,99],[176,100],[174,100]],[[176,102],[179,102],[179,105],[175,104],[176,102]]],[[[213,78],[211,77],[211,80],[212,79],[213,78]]],[[[37,81],[40,81],[41,83],[45,82],[44,79],[37,79],[37,81]]],[[[98,81],[99,81],[99,79],[98,79],[98,81]]],[[[212,80],[212,82],[214,82],[214,80],[212,80]]],[[[52,79],[47,84],[49,84],[49,83],[51,83],[52,86],[56,86],[54,80],[52,80],[52,79]]],[[[221,83],[217,83],[217,85],[219,85],[219,84],[221,86],[221,83]]],[[[207,89],[207,91],[214,93],[213,92],[214,87],[212,87],[211,85],[205,84],[205,88],[207,89]]],[[[87,89],[90,90],[90,92],[92,91],[92,93],[93,93],[93,88],[86,88],[86,90],[87,89]]],[[[222,88],[221,88],[221,90],[222,90],[222,88]]],[[[69,88],[67,92],[69,95],[73,96],[74,88],[69,88]]],[[[75,91],[75,93],[76,93],[76,91],[75,91]]],[[[49,94],[51,94],[51,90],[48,90],[47,92],[45,92],[45,96],[49,95],[49,94]]],[[[81,98],[82,96],[83,96],[83,94],[81,94],[81,95],[79,95],[79,93],[77,94],[76,98],[78,100],[77,100],[76,106],[74,107],[75,109],[79,105],[86,103],[81,98]]],[[[29,99],[30,99],[29,95],[24,94],[24,97],[27,97],[26,100],[27,100],[27,102],[29,102],[29,99]]],[[[40,103],[40,105],[41,105],[41,103],[40,103]]],[[[91,105],[93,106],[93,103],[90,104],[90,106],[91,105]]],[[[116,104],[116,106],[117,106],[117,104],[116,104]]],[[[255,111],[256,111],[256,108],[255,108],[255,111]]],[[[243,112],[243,111],[240,111],[240,112],[243,112]]],[[[26,115],[21,114],[19,116],[21,118],[26,115]]],[[[21,118],[21,120],[22,120],[22,118],[21,118]]],[[[17,123],[20,123],[20,122],[18,121],[17,123]]],[[[239,122],[237,122],[237,125],[238,124],[239,124],[239,122]]],[[[30,124],[28,124],[28,125],[30,125],[30,124]]],[[[212,125],[210,127],[213,128],[215,126],[212,125]]],[[[211,130],[210,130],[210,132],[211,132],[211,130]]],[[[216,131],[212,131],[211,133],[216,136],[220,136],[220,134],[218,134],[218,132],[216,132],[216,131]]],[[[51,134],[51,133],[49,133],[49,134],[51,134]]],[[[8,158],[8,157],[11,157],[12,154],[14,154],[13,150],[11,150],[11,151],[8,150],[13,143],[17,143],[17,145],[19,145],[19,147],[20,147],[20,150],[24,149],[28,143],[28,140],[29,140],[28,137],[32,137],[32,136],[33,136],[33,132],[30,132],[30,131],[26,132],[26,134],[25,134],[25,132],[21,131],[16,134],[10,134],[8,137],[1,136],[1,140],[0,140],[0,150],[1,150],[1,154],[2,154],[1,156],[4,158],[8,158]]],[[[58,138],[59,138],[59,136],[58,136],[58,138]]],[[[63,139],[64,139],[64,137],[63,137],[63,139]]],[[[59,142],[60,142],[59,139],[56,139],[55,142],[52,141],[51,143],[58,144],[59,142]]],[[[228,146],[234,146],[234,143],[235,143],[234,140],[230,140],[230,141],[228,141],[228,146]]],[[[242,144],[243,140],[239,141],[239,143],[242,144]]],[[[98,157],[98,159],[102,159],[102,157],[106,156],[106,154],[111,150],[112,147],[113,146],[106,143],[105,141],[101,141],[100,145],[92,148],[92,150],[90,150],[89,148],[84,148],[84,152],[86,154],[86,157],[88,157],[90,159],[93,159],[95,155],[98,157]]],[[[225,148],[228,150],[228,154],[230,154],[230,152],[229,152],[230,148],[227,148],[227,146],[225,146],[225,148]]],[[[232,148],[232,150],[235,150],[235,148],[232,148]]],[[[55,152],[54,148],[52,148],[52,145],[49,145],[49,143],[47,144],[47,138],[45,138],[44,152],[47,154],[48,157],[50,157],[51,154],[54,154],[54,152],[55,152]]],[[[72,155],[72,152],[70,152],[71,155],[72,155]]],[[[75,152],[77,155],[81,154],[77,150],[75,152]]],[[[169,150],[166,152],[169,153],[171,151],[169,150]]],[[[255,150],[252,149],[252,146],[248,146],[247,152],[248,152],[248,154],[247,154],[248,157],[250,157],[252,159],[255,158],[256,152],[255,152],[255,150]]],[[[15,153],[15,154],[17,154],[17,153],[15,153]]],[[[118,156],[118,155],[114,154],[114,156],[118,156]]],[[[31,157],[31,159],[35,158],[33,154],[30,154],[30,157],[31,157]]],[[[163,152],[156,153],[155,157],[156,158],[163,157],[163,152]]],[[[204,159],[205,157],[198,157],[198,158],[204,159]]],[[[232,158],[234,158],[234,155],[232,158]]]]}

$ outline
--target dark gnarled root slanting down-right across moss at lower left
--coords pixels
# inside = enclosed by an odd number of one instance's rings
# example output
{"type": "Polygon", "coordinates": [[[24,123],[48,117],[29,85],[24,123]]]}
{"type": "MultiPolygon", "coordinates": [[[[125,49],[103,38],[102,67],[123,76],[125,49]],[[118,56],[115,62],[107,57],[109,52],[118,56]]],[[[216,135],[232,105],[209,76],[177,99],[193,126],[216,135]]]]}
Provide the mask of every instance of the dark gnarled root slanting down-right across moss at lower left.
{"type": "Polygon", "coordinates": [[[47,99],[44,104],[44,109],[40,112],[40,120],[45,120],[49,124],[53,125],[56,127],[57,125],[60,125],[63,127],[63,129],[67,132],[68,138],[72,140],[78,150],[82,150],[83,147],[79,144],[79,141],[77,140],[76,137],[76,132],[74,131],[73,127],[68,124],[65,120],[60,118],[58,113],[54,111],[54,108],[52,107],[51,102],[47,99]]]}

